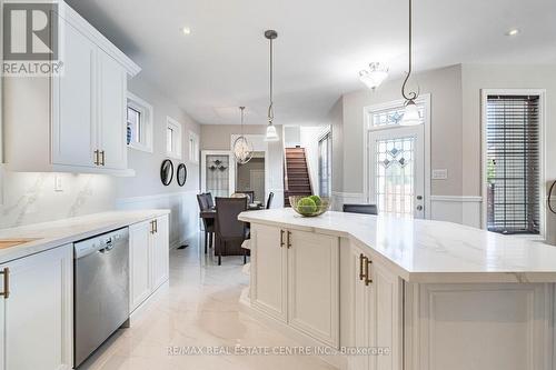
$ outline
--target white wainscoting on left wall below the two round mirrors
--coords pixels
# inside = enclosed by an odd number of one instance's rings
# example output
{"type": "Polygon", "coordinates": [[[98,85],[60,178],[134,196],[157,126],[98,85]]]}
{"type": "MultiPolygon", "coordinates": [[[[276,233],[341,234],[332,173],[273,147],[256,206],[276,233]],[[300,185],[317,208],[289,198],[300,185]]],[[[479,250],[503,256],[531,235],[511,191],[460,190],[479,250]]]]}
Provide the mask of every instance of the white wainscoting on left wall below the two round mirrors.
{"type": "Polygon", "coordinates": [[[147,197],[120,198],[116,208],[120,210],[137,210],[163,208],[170,213],[170,247],[176,248],[197,238],[199,232],[199,207],[197,191],[173,192],[147,197]]]}

